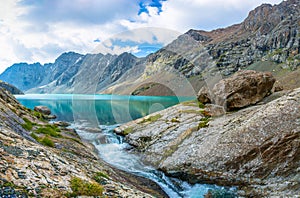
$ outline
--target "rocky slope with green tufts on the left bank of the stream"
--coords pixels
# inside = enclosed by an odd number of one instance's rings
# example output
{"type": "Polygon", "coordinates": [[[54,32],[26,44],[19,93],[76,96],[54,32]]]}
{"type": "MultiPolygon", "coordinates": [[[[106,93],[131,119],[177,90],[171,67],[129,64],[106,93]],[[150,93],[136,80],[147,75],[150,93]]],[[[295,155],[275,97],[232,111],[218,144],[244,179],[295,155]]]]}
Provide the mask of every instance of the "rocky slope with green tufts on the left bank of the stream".
{"type": "Polygon", "coordinates": [[[153,182],[101,161],[94,147],[65,126],[43,121],[0,89],[0,197],[76,196],[74,178],[100,186],[97,195],[107,197],[165,196],[153,182]]]}

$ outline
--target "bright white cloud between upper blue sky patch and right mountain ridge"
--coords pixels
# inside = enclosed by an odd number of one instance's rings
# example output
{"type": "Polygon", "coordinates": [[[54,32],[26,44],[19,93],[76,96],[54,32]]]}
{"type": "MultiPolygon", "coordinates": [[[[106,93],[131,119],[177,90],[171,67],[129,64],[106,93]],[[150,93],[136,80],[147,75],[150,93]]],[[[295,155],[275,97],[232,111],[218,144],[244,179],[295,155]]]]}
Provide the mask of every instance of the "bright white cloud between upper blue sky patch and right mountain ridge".
{"type": "Polygon", "coordinates": [[[136,21],[123,21],[128,28],[164,27],[186,32],[189,29],[212,30],[241,22],[248,12],[262,3],[280,3],[281,0],[171,0],[162,2],[162,12],[148,6],[136,21]]]}

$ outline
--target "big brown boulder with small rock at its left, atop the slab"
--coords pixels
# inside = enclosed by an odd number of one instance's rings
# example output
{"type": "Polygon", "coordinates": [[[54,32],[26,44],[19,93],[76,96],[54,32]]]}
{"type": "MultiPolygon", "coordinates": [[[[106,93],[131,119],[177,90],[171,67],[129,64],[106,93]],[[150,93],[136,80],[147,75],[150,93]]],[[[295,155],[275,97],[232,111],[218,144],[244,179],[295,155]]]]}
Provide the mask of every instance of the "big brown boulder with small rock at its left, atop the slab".
{"type": "Polygon", "coordinates": [[[243,70],[216,83],[211,92],[206,87],[198,94],[198,100],[223,106],[227,111],[256,104],[271,93],[275,78],[270,72],[243,70]]]}

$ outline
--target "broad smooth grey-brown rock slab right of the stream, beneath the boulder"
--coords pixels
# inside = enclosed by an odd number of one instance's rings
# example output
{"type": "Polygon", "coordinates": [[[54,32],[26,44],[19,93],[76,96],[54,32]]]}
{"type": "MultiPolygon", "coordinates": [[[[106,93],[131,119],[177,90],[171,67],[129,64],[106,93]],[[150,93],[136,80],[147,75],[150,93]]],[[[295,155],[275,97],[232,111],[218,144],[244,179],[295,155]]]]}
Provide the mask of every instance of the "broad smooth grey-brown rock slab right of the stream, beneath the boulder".
{"type": "Polygon", "coordinates": [[[116,131],[126,132],[146,162],[191,183],[235,185],[246,197],[300,193],[300,88],[267,104],[207,116],[197,103],[183,103],[116,131]]]}

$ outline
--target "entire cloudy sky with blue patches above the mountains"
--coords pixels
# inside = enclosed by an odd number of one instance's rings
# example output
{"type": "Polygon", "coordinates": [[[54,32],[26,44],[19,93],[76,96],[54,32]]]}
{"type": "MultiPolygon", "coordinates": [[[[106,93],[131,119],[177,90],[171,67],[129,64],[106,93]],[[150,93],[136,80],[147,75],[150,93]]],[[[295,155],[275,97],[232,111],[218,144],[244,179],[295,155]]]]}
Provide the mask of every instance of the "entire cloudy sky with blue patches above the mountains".
{"type": "Polygon", "coordinates": [[[0,7],[0,73],[18,62],[53,62],[61,53],[138,56],[189,29],[241,22],[281,0],[5,0],[0,7]]]}

